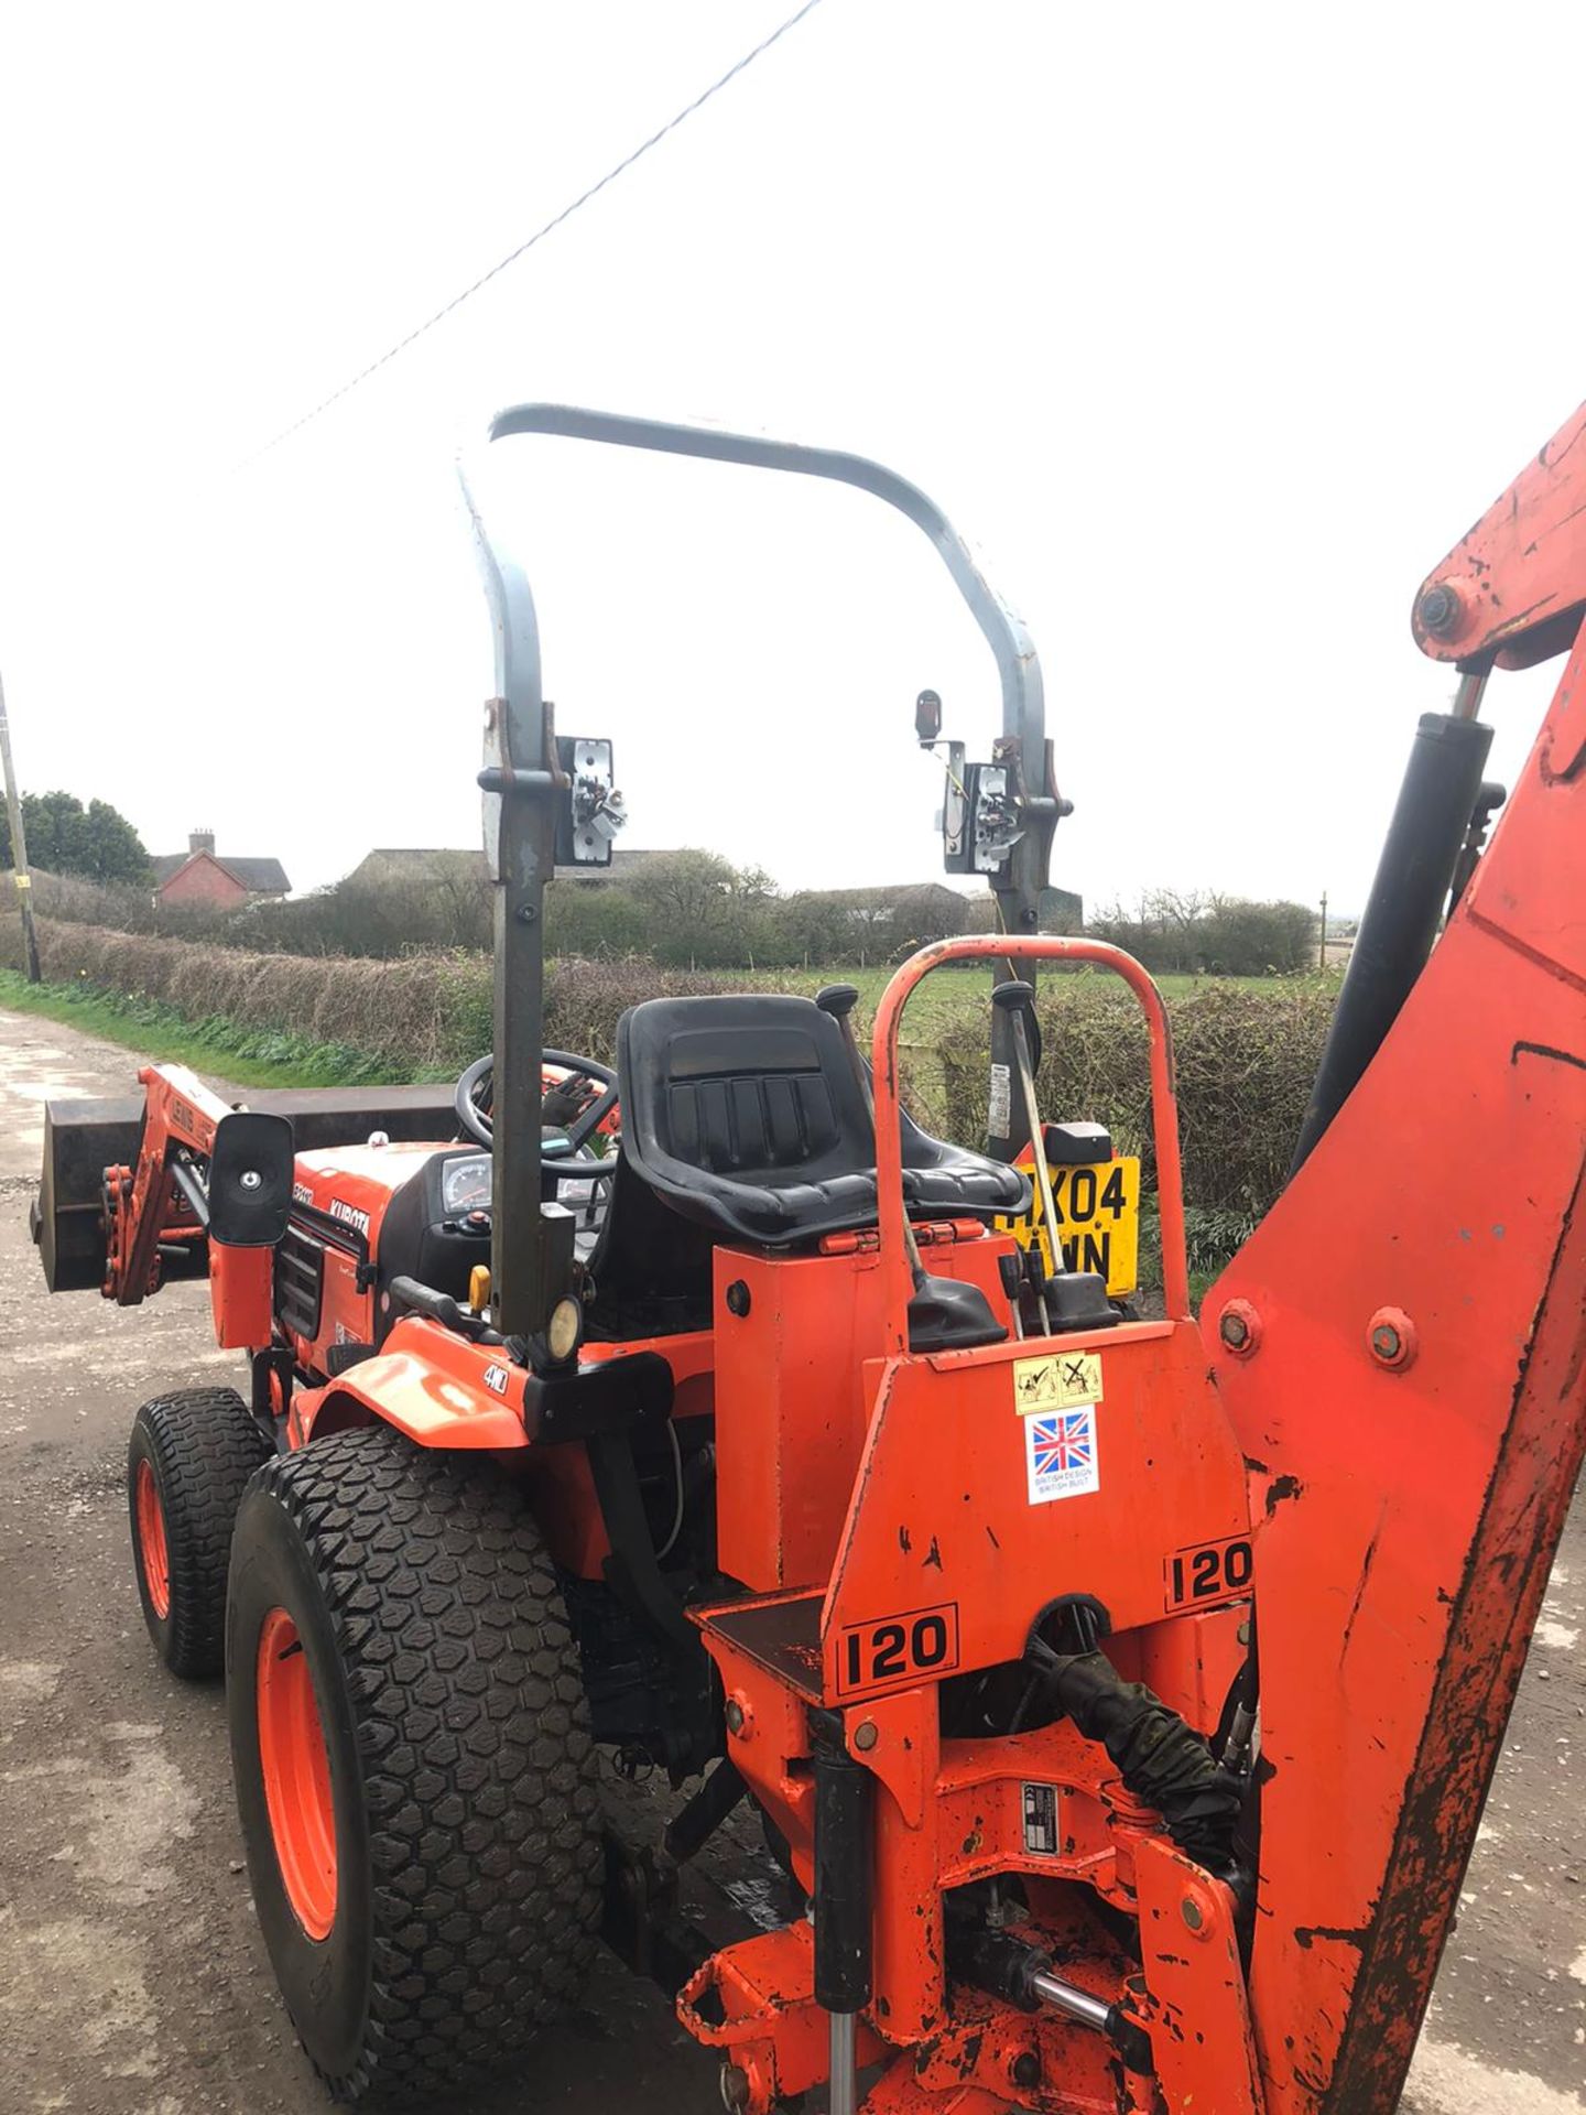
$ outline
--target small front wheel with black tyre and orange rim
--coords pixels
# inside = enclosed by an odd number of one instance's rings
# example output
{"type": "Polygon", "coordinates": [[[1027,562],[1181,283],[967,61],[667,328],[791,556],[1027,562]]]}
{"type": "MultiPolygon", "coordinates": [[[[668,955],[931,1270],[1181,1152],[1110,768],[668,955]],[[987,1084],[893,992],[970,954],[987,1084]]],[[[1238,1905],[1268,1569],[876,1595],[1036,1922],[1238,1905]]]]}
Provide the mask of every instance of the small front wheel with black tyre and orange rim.
{"type": "Polygon", "coordinates": [[[133,1419],[127,1512],[154,1650],[173,1675],[226,1658],[226,1557],[237,1506],[271,1440],[235,1387],[154,1396],[133,1419]]]}

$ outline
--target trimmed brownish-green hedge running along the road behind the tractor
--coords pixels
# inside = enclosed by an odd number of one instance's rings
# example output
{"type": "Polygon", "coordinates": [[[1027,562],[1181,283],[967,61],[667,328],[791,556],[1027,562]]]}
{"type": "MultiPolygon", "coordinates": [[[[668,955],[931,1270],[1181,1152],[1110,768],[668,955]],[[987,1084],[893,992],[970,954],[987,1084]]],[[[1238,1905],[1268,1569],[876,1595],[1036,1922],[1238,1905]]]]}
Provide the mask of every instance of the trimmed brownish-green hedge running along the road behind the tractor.
{"type": "MultiPolygon", "coordinates": [[[[478,954],[393,962],[243,954],[49,918],[40,920],[38,941],[53,983],[85,981],[195,1024],[220,1017],[315,1047],[364,1051],[406,1077],[461,1070],[491,1047],[491,962],[478,954]]],[[[0,920],[0,962],[21,967],[15,918],[0,920]]],[[[778,981],[812,990],[818,979],[778,981]]],[[[550,962],[546,1041],[611,1060],[624,1007],[742,988],[742,977],[664,969],[645,958],[550,962]]],[[[1258,990],[1205,983],[1169,1000],[1184,1195],[1210,1248],[1233,1246],[1281,1187],[1334,996],[1332,981],[1273,979],[1258,990]]],[[[1112,977],[1059,975],[1043,983],[1038,1011],[1043,1112],[1106,1123],[1123,1148],[1144,1155],[1152,1189],[1146,1032],[1133,998],[1112,977]]],[[[914,1051],[918,1112],[949,1138],[975,1144],[985,1134],[985,1015],[954,1007],[935,1026],[941,1089],[928,1051],[914,1051]]]]}

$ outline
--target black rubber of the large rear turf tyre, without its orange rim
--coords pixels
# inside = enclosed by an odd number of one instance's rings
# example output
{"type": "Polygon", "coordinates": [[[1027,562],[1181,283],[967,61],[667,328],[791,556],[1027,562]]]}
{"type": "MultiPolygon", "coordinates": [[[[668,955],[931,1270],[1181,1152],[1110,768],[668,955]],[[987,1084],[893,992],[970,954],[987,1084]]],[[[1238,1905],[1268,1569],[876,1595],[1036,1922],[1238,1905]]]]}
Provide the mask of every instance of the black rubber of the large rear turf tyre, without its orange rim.
{"type": "MultiPolygon", "coordinates": [[[[351,1717],[340,1755],[357,1777],[370,1937],[351,2060],[321,2060],[324,2037],[305,2033],[296,1969],[283,1973],[269,1918],[266,1942],[298,2035],[338,2100],[450,2104],[571,2007],[596,1946],[596,1751],[556,1576],[522,1493],[493,1464],[429,1453],[383,1428],[262,1468],[239,1552],[264,1506],[288,1516],[307,1552],[351,1717]]],[[[252,1688],[252,1662],[239,1665],[247,1639],[237,1624],[228,1635],[233,1692],[252,1688]]],[[[334,1781],[336,1711],[326,1700],[321,1717],[334,1781]]],[[[235,1705],[233,1760],[262,1912],[273,1849],[262,1846],[262,1874],[235,1705]]],[[[285,1946],[300,1950],[294,1929],[285,1946]]]]}

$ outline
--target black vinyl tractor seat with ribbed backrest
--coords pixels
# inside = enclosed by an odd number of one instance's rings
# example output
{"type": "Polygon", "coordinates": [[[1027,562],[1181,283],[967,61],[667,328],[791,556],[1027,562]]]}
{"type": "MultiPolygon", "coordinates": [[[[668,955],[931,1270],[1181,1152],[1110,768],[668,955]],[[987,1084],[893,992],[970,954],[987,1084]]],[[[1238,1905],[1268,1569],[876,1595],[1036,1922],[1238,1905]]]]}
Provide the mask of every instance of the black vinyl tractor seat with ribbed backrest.
{"type": "MultiPolygon", "coordinates": [[[[617,1022],[622,1155],[721,1242],[793,1248],[875,1225],[871,1117],[808,998],[651,998],[617,1022]]],[[[911,1218],[1023,1212],[1030,1182],[901,1117],[911,1218]]],[[[613,1197],[613,1216],[620,1199],[613,1197]]]]}

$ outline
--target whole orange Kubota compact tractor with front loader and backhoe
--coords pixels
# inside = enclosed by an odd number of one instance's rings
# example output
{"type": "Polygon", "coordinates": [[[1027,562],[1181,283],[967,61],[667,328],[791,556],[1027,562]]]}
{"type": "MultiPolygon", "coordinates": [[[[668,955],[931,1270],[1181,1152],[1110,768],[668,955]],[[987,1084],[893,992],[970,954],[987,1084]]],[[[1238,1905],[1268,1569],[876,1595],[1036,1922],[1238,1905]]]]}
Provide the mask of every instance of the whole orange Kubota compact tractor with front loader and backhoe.
{"type": "Polygon", "coordinates": [[[943,806],[1002,931],[905,962],[869,1062],[846,988],[651,1000],[613,1072],[543,1051],[543,888],[622,808],[474,510],[493,1060],[455,1108],[226,1108],[169,1066],[49,1108],[51,1286],[205,1275],[250,1360],[144,1404],[129,1508],[156,1650],[224,1658],[305,2047],[347,2100],[444,2098],[605,1933],[746,2115],[1385,2115],[1586,1436],[1586,415],[1417,599],[1459,692],[1294,1174],[1199,1324],[1161,998],[1038,933],[1038,664],[939,510],[850,455],[543,404],[520,434],[837,478],[930,537],[1002,685],[943,806]],[[1482,692],[1550,654],[1487,846],[1482,692]],[[975,960],[988,1155],[897,1074],[909,994],[975,960]],[[1161,1320],[1123,1301],[1138,1163],[1036,1115],[1038,962],[1144,1013],[1161,1320]],[[670,1772],[656,1842],[605,1829],[596,1745],[670,1772]],[[719,1944],[677,1878],[742,1802],[789,1920],[719,1944]]]}

